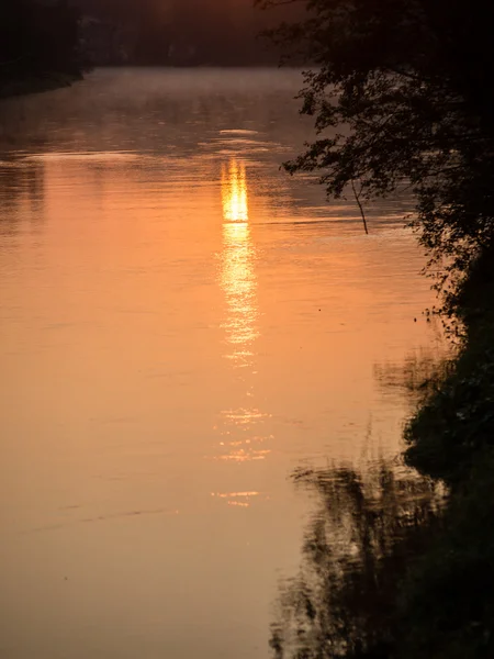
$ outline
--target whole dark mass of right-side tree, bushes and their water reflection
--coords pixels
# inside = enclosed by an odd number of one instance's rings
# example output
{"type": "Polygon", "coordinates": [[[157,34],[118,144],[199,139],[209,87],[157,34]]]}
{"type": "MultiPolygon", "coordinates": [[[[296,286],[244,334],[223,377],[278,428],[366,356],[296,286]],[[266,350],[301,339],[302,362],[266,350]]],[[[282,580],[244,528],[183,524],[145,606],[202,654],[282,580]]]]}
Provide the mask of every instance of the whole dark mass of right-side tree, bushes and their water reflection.
{"type": "Polygon", "coordinates": [[[285,167],[318,171],[329,197],[413,190],[411,224],[457,353],[429,369],[407,424],[414,471],[297,476],[321,509],[272,647],[297,659],[494,657],[494,5],[290,4],[305,20],[272,36],[312,66],[301,99],[317,138],[285,167]]]}

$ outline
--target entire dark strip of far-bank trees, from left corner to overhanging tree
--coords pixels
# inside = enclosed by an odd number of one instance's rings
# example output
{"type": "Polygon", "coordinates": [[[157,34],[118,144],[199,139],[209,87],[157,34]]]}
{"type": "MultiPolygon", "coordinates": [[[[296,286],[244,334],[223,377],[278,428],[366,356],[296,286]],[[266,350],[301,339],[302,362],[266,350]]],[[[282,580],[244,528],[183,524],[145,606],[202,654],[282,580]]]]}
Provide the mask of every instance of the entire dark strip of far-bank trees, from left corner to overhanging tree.
{"type": "Polygon", "coordinates": [[[280,15],[252,0],[3,0],[0,98],[43,91],[93,66],[273,65],[259,40],[280,15]]]}

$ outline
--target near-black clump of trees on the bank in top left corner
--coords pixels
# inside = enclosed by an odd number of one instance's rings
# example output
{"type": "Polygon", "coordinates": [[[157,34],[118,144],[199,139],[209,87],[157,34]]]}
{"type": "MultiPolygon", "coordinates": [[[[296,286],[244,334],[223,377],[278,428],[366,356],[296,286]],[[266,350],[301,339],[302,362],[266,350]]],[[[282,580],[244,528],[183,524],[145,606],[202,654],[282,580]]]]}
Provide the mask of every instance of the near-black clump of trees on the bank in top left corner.
{"type": "MultiPolygon", "coordinates": [[[[80,75],[79,11],[63,0],[0,2],[0,91],[22,81],[80,75]]],[[[21,89],[20,89],[21,90],[21,89]]],[[[29,89],[27,89],[29,90],[29,89]]]]}

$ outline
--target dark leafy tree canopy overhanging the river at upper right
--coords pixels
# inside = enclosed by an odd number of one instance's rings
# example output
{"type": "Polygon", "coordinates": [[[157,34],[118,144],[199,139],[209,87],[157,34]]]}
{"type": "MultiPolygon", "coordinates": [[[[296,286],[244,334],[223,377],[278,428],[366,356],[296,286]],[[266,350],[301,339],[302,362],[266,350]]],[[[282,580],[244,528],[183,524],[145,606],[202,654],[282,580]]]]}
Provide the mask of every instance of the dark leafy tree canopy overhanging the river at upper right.
{"type": "Polygon", "coordinates": [[[494,7],[464,0],[257,0],[303,8],[271,36],[303,59],[317,138],[287,163],[330,197],[405,182],[413,226],[451,294],[494,243],[494,7]]]}

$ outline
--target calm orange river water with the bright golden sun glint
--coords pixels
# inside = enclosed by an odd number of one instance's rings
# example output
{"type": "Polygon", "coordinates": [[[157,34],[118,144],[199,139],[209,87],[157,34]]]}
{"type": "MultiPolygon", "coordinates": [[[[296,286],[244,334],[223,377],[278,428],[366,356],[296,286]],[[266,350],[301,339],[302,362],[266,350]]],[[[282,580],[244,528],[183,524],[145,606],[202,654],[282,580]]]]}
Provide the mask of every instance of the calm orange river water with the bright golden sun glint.
{"type": "Polygon", "coordinates": [[[262,659],[301,466],[393,458],[438,340],[405,202],[280,163],[296,71],[98,70],[0,104],[0,652],[262,659]],[[414,319],[417,322],[414,322],[414,319]]]}

